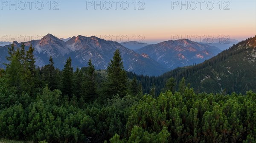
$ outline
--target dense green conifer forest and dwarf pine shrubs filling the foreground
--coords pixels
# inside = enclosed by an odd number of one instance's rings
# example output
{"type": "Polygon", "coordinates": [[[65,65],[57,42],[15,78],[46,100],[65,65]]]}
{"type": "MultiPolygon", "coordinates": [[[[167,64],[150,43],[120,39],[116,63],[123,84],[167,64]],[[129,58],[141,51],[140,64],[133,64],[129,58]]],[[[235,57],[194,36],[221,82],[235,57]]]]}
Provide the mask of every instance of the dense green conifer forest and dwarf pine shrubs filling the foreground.
{"type": "MultiPolygon", "coordinates": [[[[0,138],[35,143],[256,143],[252,90],[199,92],[186,76],[168,77],[164,85],[142,82],[124,70],[118,49],[107,70],[95,70],[91,60],[83,68],[72,67],[71,58],[59,70],[52,57],[39,68],[32,45],[24,47],[12,45],[9,63],[0,70],[0,138]]],[[[228,57],[225,52],[223,58],[228,57]]],[[[222,59],[207,63],[216,60],[222,59]]]]}

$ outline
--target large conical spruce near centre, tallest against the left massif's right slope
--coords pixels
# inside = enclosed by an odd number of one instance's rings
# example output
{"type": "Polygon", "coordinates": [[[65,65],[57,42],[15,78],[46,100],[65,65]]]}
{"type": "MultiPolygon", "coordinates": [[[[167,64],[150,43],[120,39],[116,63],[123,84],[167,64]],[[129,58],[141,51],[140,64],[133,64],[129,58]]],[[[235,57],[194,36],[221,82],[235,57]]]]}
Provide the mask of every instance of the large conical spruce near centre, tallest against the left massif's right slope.
{"type": "Polygon", "coordinates": [[[108,76],[103,94],[106,95],[106,98],[112,98],[116,94],[124,97],[127,92],[128,78],[119,49],[116,49],[113,59],[108,64],[107,71],[108,76]]]}

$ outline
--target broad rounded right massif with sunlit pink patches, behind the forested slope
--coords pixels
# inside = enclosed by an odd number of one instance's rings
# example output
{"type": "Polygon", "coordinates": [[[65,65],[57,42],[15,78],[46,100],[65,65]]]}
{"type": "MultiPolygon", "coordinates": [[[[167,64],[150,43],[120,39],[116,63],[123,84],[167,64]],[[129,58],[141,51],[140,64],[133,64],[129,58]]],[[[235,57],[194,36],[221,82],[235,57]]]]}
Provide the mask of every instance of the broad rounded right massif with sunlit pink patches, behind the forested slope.
{"type": "Polygon", "coordinates": [[[147,54],[168,69],[174,69],[204,62],[204,60],[220,53],[221,50],[215,46],[180,39],[148,45],[140,48],[137,52],[147,54]]]}

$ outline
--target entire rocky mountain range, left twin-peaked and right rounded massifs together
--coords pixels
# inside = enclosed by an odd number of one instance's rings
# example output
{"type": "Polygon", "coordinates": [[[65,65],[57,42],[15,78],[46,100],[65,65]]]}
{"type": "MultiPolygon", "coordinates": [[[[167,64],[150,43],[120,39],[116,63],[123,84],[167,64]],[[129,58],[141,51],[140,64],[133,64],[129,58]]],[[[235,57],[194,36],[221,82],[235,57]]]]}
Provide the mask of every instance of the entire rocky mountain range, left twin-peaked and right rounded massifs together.
{"type": "MultiPolygon", "coordinates": [[[[20,47],[22,43],[25,44],[25,49],[28,49],[30,45],[35,48],[34,55],[37,66],[42,67],[48,64],[49,57],[52,56],[55,67],[60,69],[64,67],[69,56],[75,68],[87,66],[88,60],[91,59],[96,69],[106,69],[114,51],[119,48],[125,70],[149,76],[157,76],[176,67],[203,62],[221,51],[217,47],[192,42],[188,39],[146,45],[138,49],[138,52],[126,48],[118,42],[106,41],[96,36],[79,35],[61,40],[52,34],[47,34],[40,40],[13,42],[15,48],[20,47]]],[[[129,43],[131,44],[131,42],[129,43]]],[[[138,42],[133,43],[140,45],[138,42]]],[[[4,68],[3,63],[7,62],[8,47],[11,45],[0,47],[1,68],[4,68]]]]}

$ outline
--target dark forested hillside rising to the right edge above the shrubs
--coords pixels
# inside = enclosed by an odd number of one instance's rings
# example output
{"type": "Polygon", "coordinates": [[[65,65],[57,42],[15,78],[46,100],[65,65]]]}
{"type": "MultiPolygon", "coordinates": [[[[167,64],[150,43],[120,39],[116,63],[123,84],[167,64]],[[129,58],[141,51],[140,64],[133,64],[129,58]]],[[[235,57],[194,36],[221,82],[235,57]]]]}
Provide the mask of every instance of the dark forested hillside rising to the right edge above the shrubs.
{"type": "MultiPolygon", "coordinates": [[[[128,75],[136,76],[132,73],[128,75]]],[[[176,80],[175,89],[185,77],[196,93],[256,92],[256,36],[233,45],[203,63],[179,67],[158,77],[140,75],[137,79],[142,82],[145,93],[149,93],[154,84],[159,94],[171,77],[176,80]]]]}

